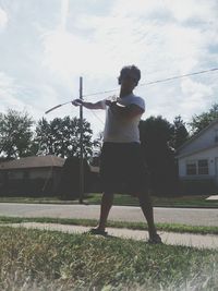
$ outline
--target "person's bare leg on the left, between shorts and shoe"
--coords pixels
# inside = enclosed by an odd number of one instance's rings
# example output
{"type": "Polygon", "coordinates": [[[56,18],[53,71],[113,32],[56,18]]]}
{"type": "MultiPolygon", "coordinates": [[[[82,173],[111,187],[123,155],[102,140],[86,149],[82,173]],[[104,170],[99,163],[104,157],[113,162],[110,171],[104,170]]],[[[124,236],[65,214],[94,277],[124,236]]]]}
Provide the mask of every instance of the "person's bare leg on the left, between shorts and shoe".
{"type": "Polygon", "coordinates": [[[100,205],[100,219],[99,219],[99,225],[98,229],[99,230],[105,230],[108,215],[110,211],[110,208],[112,206],[113,202],[113,193],[104,193],[102,198],[101,198],[101,205],[100,205]]]}

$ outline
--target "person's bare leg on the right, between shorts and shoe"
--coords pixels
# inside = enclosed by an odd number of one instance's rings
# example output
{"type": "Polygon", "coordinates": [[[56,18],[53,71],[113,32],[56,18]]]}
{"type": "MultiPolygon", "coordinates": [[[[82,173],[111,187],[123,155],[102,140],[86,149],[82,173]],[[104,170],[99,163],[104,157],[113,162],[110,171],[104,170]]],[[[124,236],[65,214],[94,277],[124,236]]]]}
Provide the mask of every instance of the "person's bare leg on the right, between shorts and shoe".
{"type": "Polygon", "coordinates": [[[150,196],[148,193],[140,194],[137,196],[143,214],[147,220],[149,239],[153,239],[157,235],[157,230],[154,222],[154,211],[150,196]]]}

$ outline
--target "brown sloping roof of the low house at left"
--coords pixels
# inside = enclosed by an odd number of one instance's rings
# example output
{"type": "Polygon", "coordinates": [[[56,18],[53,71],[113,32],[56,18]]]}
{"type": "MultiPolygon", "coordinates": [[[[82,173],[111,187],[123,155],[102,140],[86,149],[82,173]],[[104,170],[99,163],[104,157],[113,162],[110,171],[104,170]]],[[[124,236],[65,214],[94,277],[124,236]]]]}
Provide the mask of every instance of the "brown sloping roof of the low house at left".
{"type": "Polygon", "coordinates": [[[56,156],[33,156],[0,162],[0,170],[62,167],[65,159],[56,156]]]}

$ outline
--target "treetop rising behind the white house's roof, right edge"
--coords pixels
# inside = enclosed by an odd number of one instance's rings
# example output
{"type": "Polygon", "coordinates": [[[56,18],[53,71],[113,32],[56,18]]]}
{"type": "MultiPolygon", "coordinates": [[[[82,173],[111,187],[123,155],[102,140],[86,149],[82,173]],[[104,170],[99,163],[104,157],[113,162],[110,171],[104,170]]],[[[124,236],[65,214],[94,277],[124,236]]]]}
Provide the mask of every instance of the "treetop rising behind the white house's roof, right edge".
{"type": "Polygon", "coordinates": [[[218,119],[218,104],[214,104],[209,111],[205,111],[198,116],[195,114],[192,118],[192,121],[189,123],[192,134],[198,133],[216,119],[218,119]]]}

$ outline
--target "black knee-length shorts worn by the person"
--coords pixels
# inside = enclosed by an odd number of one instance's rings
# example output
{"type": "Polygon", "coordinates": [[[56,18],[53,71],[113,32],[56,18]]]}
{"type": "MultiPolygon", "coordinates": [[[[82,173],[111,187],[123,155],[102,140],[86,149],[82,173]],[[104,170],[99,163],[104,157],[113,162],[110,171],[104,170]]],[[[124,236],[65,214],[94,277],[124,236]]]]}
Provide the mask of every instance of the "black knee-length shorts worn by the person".
{"type": "Polygon", "coordinates": [[[140,194],[148,190],[148,171],[138,143],[104,143],[100,156],[104,192],[140,194]]]}

